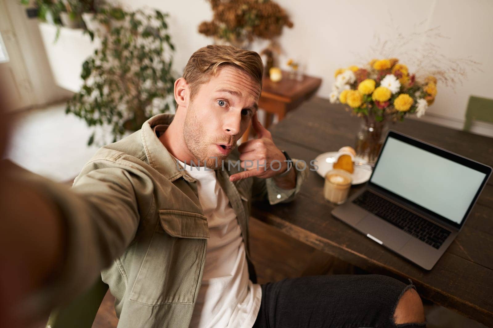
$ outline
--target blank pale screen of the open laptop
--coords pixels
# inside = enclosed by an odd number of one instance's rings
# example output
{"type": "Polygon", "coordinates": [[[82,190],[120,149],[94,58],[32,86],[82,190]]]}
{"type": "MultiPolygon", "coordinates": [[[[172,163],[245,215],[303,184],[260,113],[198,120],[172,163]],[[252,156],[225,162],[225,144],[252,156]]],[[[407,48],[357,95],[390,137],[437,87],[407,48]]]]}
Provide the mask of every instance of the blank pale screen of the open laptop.
{"type": "Polygon", "coordinates": [[[371,182],[460,224],[485,176],[388,137],[371,182]]]}

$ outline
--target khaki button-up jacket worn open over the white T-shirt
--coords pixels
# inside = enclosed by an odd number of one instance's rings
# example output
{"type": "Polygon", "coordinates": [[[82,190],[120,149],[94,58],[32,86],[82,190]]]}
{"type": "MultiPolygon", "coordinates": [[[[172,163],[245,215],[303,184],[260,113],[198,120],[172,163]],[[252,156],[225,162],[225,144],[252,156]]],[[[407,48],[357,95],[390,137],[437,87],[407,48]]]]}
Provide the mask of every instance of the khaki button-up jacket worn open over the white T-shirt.
{"type": "MultiPolygon", "coordinates": [[[[75,292],[91,284],[95,268],[106,268],[101,276],[116,298],[121,328],[188,327],[201,287],[209,229],[197,183],[178,169],[154,130],[165,129],[172,120],[169,114],[154,116],[141,130],[99,149],[75,179],[74,194],[58,196],[70,218],[64,276],[72,283],[61,286],[75,292]]],[[[237,150],[228,156],[238,158],[237,150]]],[[[251,201],[291,201],[308,174],[304,164],[298,162],[291,190],[279,188],[273,179],[229,181],[239,166],[215,170],[237,215],[253,282],[251,201]]]]}

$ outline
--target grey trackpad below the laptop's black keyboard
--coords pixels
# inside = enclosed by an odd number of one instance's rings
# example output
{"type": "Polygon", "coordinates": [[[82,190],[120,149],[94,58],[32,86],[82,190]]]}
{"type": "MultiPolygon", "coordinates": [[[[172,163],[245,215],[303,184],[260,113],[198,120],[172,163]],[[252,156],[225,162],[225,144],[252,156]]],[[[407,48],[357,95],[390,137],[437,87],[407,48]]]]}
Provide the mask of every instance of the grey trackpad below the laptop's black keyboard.
{"type": "Polygon", "coordinates": [[[365,235],[370,234],[380,239],[385,246],[394,250],[401,249],[412,238],[404,231],[373,214],[366,215],[356,224],[356,228],[364,232],[365,235]]]}

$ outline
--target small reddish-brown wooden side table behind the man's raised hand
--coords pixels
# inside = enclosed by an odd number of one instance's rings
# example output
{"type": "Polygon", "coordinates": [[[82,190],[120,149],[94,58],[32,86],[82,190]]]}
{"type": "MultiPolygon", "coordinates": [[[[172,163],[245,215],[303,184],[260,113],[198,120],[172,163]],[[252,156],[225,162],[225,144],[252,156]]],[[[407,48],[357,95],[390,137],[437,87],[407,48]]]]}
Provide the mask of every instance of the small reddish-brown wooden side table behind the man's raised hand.
{"type": "MultiPolygon", "coordinates": [[[[273,115],[277,115],[281,121],[287,112],[312,97],[321,83],[322,79],[308,75],[303,75],[301,81],[290,79],[287,71],[282,71],[281,81],[272,82],[265,74],[262,79],[262,93],[258,101],[258,107],[266,112],[265,128],[271,124],[273,115]]],[[[242,142],[248,140],[250,127],[248,126],[243,134],[242,142]]]]}

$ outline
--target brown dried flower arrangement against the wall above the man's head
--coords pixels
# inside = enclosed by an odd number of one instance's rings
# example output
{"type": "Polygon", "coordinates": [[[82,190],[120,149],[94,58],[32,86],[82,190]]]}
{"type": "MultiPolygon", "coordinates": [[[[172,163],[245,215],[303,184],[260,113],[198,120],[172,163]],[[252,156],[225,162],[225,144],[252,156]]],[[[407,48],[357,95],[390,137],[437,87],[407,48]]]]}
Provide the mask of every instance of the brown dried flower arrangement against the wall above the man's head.
{"type": "Polygon", "coordinates": [[[293,27],[282,7],[271,0],[209,0],[214,13],[211,22],[202,22],[199,32],[233,45],[254,38],[272,39],[282,28],[293,27]]]}

